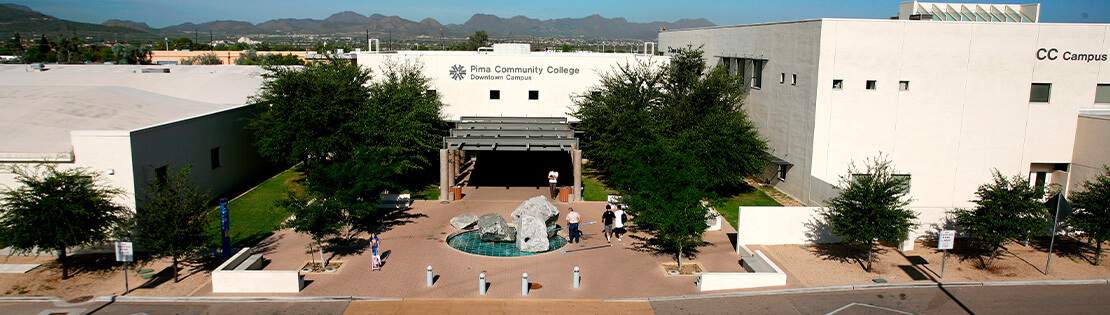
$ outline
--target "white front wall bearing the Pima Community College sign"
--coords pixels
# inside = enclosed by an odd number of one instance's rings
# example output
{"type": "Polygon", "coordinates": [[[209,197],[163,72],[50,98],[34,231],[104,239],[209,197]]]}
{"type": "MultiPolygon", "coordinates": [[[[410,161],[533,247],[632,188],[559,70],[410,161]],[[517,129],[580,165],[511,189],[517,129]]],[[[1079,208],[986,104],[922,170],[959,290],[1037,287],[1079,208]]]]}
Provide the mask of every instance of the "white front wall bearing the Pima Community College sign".
{"type": "MultiPolygon", "coordinates": [[[[652,62],[665,64],[666,57],[630,53],[554,53],[526,54],[477,52],[401,51],[397,53],[360,53],[359,64],[381,78],[387,60],[421,62],[424,75],[432,79],[432,89],[441,95],[448,120],[461,115],[567,116],[573,111],[574,95],[599,83],[601,73],[612,72],[617,64],[652,62]],[[453,79],[453,67],[465,75],[453,79]],[[539,73],[497,72],[504,68],[536,67],[539,73]],[[482,69],[482,70],[480,70],[482,69]],[[488,72],[484,72],[488,69],[488,72]],[[571,72],[554,73],[556,69],[571,72]],[[491,77],[491,78],[486,78],[491,77]],[[501,91],[500,100],[491,100],[490,91],[501,91]],[[539,91],[538,100],[528,100],[528,91],[539,91]]],[[[573,120],[573,118],[571,118],[573,120]]]]}

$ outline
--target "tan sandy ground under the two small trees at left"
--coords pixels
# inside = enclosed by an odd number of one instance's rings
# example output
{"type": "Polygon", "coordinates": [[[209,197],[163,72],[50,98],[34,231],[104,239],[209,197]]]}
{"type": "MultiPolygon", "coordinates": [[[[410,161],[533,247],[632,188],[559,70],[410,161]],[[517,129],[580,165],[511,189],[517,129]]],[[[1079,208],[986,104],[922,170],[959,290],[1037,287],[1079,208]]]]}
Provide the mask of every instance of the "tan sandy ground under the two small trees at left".
{"type": "MultiPolygon", "coordinates": [[[[42,264],[24,274],[0,274],[0,296],[58,296],[67,301],[82,297],[120,295],[124,291],[123,264],[115,262],[113,254],[89,254],[71,256],[70,278],[62,280],[61,265],[57,257],[0,256],[3,264],[42,264]]],[[[210,273],[199,262],[185,262],[181,267],[181,282],[173,283],[170,260],[147,260],[129,264],[128,295],[191,295],[210,282],[210,273]],[[154,270],[155,277],[141,278],[140,268],[154,270]]],[[[211,270],[211,267],[206,267],[211,270]]]]}

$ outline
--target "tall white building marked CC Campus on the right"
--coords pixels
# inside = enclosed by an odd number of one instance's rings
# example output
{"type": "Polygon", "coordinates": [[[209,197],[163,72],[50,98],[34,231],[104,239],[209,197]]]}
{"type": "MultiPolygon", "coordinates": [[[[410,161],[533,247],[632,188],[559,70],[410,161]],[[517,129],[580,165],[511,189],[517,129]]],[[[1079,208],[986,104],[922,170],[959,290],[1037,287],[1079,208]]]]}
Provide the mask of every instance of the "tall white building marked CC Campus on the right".
{"type": "MultiPolygon", "coordinates": [[[[745,109],[793,164],[767,177],[807,205],[879,153],[910,176],[915,207],[970,206],[992,169],[1068,189],[1086,180],[1069,176],[1073,151],[1104,148],[1104,135],[1077,143],[1077,120],[1110,109],[1110,24],[1039,23],[1039,6],[901,8],[898,20],[670,30],[659,47],[702,47],[748,79],[745,109]]],[[[1101,152],[1083,167],[1110,163],[1101,152]]]]}

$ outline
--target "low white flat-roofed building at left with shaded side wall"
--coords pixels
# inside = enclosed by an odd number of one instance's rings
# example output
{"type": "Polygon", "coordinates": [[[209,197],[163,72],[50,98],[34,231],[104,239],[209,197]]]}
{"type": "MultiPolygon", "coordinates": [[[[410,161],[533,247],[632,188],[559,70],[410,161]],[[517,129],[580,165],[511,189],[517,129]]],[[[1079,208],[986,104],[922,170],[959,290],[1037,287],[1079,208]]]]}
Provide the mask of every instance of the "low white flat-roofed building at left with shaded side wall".
{"type": "MultiPolygon", "coordinates": [[[[265,175],[244,118],[261,69],[235,65],[0,65],[0,166],[89,167],[134,210],[150,179],[192,165],[222,194],[265,175]]],[[[0,185],[16,184],[7,167],[0,185]]]]}

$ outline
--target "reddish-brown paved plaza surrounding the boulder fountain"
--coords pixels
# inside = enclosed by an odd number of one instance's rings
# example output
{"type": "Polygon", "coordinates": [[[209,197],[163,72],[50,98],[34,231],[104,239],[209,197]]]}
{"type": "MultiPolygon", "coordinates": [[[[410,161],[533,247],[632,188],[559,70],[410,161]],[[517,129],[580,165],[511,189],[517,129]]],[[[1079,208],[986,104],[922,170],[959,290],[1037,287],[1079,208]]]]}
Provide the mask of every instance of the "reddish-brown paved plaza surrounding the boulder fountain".
{"type": "MultiPolygon", "coordinates": [[[[370,255],[359,251],[336,253],[332,262],[343,262],[334,274],[307,274],[306,286],[297,295],[310,296],[374,296],[404,298],[634,298],[697,294],[697,276],[666,275],[660,263],[672,263],[672,256],[657,256],[636,248],[638,235],[626,235],[623,242],[613,240],[616,246],[561,254],[548,252],[524,257],[488,257],[467,254],[447,246],[446,237],[456,230],[450,220],[472,212],[477,215],[501,213],[508,217],[527,197],[535,196],[535,187],[483,187],[470,192],[463,201],[441,203],[417,201],[413,213],[425,216],[395,226],[381,235],[383,268],[370,271],[370,255]],[[488,192],[491,193],[486,193],[488,192]],[[485,194],[485,197],[482,195],[485,194]],[[496,199],[513,199],[498,201],[496,199]],[[433,266],[437,280],[435,285],[425,285],[425,268],[433,266]],[[582,286],[573,287],[573,270],[582,270],[582,286]],[[478,295],[478,274],[485,272],[490,283],[488,293],[478,295]],[[529,282],[539,287],[527,296],[521,295],[521,275],[527,273],[529,282]]],[[[562,216],[567,207],[574,206],[584,220],[601,220],[604,202],[554,202],[562,216]]],[[[583,226],[583,242],[568,244],[564,250],[607,245],[602,235],[604,226],[583,226]]],[[[739,256],[735,254],[728,233],[709,232],[705,238],[712,245],[703,247],[698,263],[710,272],[741,272],[739,256]]],[[[563,232],[565,235],[565,232],[563,232]]],[[[279,231],[263,241],[261,251],[271,263],[265,270],[297,270],[313,258],[307,245],[310,238],[289,230],[279,231]]],[[[365,251],[369,251],[365,250],[365,251]]],[[[195,295],[213,294],[211,285],[195,295]]]]}

